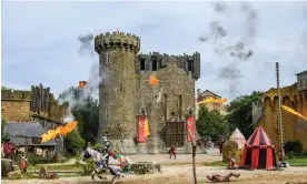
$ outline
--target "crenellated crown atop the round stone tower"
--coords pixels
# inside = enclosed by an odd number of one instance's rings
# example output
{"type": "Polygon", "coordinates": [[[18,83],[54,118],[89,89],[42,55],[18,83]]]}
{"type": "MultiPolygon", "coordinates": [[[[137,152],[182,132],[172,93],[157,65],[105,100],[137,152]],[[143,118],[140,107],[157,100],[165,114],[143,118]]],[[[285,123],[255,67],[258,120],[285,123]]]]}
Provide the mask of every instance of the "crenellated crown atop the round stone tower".
{"type": "Polygon", "coordinates": [[[95,50],[98,54],[110,49],[125,49],[138,53],[140,51],[140,39],[135,34],[125,34],[125,32],[119,34],[107,32],[95,38],[95,50]]]}

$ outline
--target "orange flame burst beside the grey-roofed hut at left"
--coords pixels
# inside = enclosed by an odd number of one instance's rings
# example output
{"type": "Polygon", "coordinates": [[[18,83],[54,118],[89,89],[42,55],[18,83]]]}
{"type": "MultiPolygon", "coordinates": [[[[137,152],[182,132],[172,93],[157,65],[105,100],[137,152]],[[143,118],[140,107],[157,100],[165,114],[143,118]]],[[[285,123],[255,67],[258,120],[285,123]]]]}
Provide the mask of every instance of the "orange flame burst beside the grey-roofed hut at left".
{"type": "Polygon", "coordinates": [[[47,133],[41,135],[41,143],[46,143],[50,140],[56,139],[59,135],[66,135],[67,133],[71,132],[76,125],[78,124],[77,121],[69,122],[65,126],[58,126],[56,130],[49,130],[47,133]]]}

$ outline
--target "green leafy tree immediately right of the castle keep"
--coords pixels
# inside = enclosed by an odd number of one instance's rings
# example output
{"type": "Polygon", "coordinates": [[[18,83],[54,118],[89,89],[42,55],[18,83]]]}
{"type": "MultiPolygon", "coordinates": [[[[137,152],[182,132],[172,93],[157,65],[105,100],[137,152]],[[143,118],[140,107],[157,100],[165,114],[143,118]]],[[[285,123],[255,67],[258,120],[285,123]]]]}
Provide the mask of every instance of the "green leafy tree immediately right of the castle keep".
{"type": "Polygon", "coordinates": [[[209,111],[204,104],[199,109],[196,129],[201,137],[216,139],[229,135],[229,124],[225,121],[225,116],[217,111],[209,111]]]}

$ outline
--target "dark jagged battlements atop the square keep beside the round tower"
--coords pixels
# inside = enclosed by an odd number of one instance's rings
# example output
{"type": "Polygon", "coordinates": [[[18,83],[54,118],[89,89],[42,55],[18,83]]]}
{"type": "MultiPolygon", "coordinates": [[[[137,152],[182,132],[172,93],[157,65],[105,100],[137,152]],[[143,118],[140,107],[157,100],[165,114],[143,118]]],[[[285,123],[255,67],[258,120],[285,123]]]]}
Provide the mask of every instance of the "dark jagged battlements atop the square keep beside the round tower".
{"type": "Polygon", "coordinates": [[[170,58],[176,60],[178,68],[190,71],[192,76],[197,80],[200,78],[200,53],[194,54],[171,55],[159,52],[149,52],[149,54],[140,53],[137,57],[136,68],[137,71],[158,71],[166,68],[170,58]]]}

